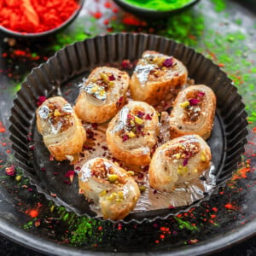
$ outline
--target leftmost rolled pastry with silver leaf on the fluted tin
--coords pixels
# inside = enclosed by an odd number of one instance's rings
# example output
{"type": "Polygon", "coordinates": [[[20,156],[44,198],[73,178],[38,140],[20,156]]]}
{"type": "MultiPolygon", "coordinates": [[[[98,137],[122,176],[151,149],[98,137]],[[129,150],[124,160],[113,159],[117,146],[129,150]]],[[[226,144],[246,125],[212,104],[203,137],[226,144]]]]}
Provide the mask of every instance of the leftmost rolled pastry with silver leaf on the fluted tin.
{"type": "Polygon", "coordinates": [[[38,132],[55,160],[73,161],[82,151],[86,132],[72,106],[61,96],[47,99],[37,110],[38,132]]]}

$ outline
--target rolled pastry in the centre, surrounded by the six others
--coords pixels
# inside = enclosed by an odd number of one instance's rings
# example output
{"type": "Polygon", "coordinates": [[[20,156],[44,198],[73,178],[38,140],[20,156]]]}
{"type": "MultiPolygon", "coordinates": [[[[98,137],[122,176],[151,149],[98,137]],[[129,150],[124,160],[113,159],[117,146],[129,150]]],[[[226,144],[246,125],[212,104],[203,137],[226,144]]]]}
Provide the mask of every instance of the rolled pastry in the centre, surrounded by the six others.
{"type": "Polygon", "coordinates": [[[157,143],[158,115],[146,102],[129,102],[108,124],[108,149],[127,164],[147,166],[157,143]]]}

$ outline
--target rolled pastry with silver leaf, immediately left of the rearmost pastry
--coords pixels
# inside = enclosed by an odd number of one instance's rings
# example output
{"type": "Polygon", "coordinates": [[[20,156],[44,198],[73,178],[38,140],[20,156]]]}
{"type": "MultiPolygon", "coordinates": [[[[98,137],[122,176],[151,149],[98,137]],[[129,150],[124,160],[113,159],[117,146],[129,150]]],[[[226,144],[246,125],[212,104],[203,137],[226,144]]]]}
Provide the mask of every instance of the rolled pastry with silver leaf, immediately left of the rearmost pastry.
{"type": "Polygon", "coordinates": [[[125,104],[129,87],[128,73],[113,67],[96,67],[84,82],[75,105],[79,118],[104,123],[125,104]]]}

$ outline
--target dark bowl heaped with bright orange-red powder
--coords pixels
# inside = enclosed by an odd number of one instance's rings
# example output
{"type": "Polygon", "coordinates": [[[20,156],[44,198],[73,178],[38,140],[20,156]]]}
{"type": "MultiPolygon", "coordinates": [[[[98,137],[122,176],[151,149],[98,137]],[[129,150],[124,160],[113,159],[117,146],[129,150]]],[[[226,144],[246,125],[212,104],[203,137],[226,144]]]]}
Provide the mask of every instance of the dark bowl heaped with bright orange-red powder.
{"type": "Polygon", "coordinates": [[[60,32],[79,15],[84,0],[1,0],[0,31],[39,38],[60,32]]]}

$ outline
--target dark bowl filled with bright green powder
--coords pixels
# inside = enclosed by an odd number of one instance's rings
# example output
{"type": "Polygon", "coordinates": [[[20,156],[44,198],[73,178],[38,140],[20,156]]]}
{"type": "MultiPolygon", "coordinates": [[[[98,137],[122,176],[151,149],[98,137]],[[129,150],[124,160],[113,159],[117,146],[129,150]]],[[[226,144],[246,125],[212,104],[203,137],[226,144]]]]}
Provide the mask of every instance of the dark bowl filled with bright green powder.
{"type": "Polygon", "coordinates": [[[143,18],[161,19],[188,9],[200,0],[113,0],[126,12],[143,18]]]}

